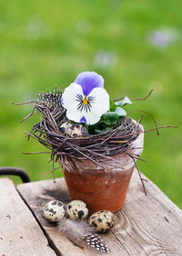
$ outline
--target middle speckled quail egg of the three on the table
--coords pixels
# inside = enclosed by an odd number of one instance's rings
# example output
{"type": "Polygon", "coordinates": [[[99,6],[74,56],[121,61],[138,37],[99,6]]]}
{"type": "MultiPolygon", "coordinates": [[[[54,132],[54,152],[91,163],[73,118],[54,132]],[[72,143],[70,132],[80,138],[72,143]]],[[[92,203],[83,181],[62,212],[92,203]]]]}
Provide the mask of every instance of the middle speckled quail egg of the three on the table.
{"type": "Polygon", "coordinates": [[[86,203],[81,200],[71,201],[66,208],[66,213],[69,219],[86,219],[88,208],[86,203]]]}

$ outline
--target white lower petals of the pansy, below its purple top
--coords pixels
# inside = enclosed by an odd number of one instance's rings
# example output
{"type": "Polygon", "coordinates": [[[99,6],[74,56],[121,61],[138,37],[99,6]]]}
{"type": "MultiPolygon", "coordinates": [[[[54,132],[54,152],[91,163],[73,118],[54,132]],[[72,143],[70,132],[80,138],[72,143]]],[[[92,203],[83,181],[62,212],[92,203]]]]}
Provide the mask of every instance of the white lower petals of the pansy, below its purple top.
{"type": "Polygon", "coordinates": [[[86,97],[81,85],[70,84],[62,95],[66,117],[76,123],[98,123],[103,113],[109,110],[109,95],[105,89],[96,87],[86,97]]]}

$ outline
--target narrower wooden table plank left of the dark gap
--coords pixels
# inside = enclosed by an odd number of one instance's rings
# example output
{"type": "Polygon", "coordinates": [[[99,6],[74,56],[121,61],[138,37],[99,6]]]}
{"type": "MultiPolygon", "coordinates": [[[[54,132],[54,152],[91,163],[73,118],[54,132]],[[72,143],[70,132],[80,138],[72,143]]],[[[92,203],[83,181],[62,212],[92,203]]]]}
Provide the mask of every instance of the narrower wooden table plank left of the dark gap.
{"type": "Polygon", "coordinates": [[[0,195],[0,255],[56,255],[10,179],[0,179],[0,195]]]}

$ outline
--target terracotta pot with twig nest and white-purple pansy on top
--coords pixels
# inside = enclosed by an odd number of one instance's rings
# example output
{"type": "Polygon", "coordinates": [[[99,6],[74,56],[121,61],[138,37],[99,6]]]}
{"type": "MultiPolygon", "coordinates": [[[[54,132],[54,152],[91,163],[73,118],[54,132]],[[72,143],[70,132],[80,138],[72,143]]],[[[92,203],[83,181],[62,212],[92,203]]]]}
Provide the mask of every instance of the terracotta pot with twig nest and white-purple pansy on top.
{"type": "Polygon", "coordinates": [[[122,208],[144,141],[143,126],[123,109],[132,102],[110,100],[96,72],[80,73],[65,91],[39,93],[31,102],[42,118],[28,135],[60,163],[70,197],[91,212],[122,208]]]}

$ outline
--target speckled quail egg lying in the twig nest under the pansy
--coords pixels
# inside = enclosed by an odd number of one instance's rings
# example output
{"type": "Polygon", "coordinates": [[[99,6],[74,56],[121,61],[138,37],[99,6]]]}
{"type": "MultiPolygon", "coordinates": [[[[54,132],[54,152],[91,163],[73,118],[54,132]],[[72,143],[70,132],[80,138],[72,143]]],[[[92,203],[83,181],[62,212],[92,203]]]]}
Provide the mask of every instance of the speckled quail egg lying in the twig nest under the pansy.
{"type": "Polygon", "coordinates": [[[86,127],[79,123],[62,123],[60,131],[70,137],[85,136],[88,134],[86,127]]]}

